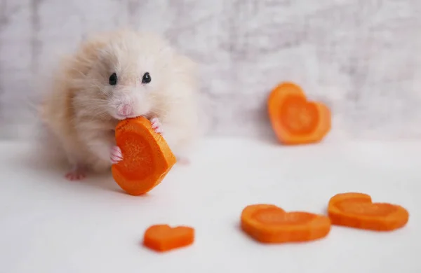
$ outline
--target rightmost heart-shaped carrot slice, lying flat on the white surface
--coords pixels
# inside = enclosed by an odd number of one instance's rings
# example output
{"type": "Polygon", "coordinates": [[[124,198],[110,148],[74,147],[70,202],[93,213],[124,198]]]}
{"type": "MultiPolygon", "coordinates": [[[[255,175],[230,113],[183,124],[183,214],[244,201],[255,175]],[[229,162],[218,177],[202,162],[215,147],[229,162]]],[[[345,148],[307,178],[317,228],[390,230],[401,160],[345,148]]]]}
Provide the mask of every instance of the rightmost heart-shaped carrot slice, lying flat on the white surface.
{"type": "Polygon", "coordinates": [[[328,215],[333,225],[388,231],[408,223],[406,209],[396,204],[373,203],[370,195],[340,193],[330,198],[328,215]]]}

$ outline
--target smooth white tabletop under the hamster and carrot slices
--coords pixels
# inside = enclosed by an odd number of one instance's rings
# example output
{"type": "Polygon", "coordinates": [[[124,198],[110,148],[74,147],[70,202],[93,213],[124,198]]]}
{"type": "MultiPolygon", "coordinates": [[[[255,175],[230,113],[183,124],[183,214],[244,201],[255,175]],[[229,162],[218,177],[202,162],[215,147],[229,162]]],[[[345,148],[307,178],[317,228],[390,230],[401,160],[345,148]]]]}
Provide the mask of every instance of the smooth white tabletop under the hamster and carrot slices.
{"type": "Polygon", "coordinates": [[[420,143],[281,147],[208,139],[145,197],[111,176],[69,182],[0,144],[0,272],[421,272],[420,143]],[[402,230],[333,227],[306,244],[262,245],[239,230],[241,209],[266,202],[324,213],[335,193],[359,191],[410,212],[402,230]],[[142,247],[152,224],[192,225],[193,246],[142,247]]]}

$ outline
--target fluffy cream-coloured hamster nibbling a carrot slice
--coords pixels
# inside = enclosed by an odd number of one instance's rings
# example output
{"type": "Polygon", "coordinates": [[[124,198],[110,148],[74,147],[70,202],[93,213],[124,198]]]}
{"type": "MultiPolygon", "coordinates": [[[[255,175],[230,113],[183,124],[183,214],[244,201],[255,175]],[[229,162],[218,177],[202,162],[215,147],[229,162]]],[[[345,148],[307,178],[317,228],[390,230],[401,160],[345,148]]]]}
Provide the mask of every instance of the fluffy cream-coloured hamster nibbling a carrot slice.
{"type": "Polygon", "coordinates": [[[196,63],[152,33],[115,30],[91,36],[53,76],[40,117],[65,153],[69,180],[123,160],[114,129],[145,116],[180,162],[188,162],[197,126],[196,63]]]}

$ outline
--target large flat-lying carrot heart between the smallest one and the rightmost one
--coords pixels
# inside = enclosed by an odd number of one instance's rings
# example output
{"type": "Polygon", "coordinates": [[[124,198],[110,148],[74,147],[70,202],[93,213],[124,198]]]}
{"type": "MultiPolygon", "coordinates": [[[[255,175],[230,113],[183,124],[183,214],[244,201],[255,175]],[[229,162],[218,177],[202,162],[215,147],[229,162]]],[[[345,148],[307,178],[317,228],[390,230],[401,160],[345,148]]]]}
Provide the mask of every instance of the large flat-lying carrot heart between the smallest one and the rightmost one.
{"type": "Polygon", "coordinates": [[[309,212],[286,212],[273,204],[253,204],[243,209],[241,228],[262,243],[312,241],[328,235],[330,221],[309,212]]]}

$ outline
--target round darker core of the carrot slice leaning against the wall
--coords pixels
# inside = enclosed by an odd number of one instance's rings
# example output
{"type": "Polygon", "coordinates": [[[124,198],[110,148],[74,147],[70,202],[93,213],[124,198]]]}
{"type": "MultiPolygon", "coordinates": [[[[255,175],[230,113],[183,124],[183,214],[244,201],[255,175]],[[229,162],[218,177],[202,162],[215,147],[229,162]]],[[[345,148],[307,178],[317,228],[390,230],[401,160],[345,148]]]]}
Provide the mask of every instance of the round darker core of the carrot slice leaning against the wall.
{"type": "Polygon", "coordinates": [[[280,120],[293,134],[311,134],[319,124],[319,111],[305,97],[290,95],[283,100],[280,120]]]}

